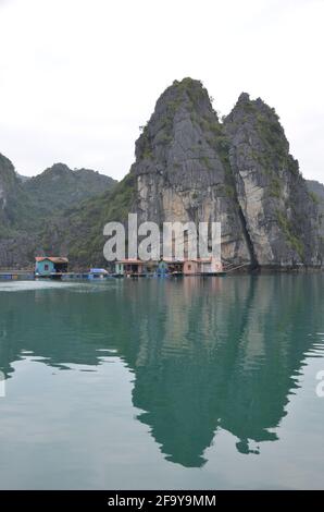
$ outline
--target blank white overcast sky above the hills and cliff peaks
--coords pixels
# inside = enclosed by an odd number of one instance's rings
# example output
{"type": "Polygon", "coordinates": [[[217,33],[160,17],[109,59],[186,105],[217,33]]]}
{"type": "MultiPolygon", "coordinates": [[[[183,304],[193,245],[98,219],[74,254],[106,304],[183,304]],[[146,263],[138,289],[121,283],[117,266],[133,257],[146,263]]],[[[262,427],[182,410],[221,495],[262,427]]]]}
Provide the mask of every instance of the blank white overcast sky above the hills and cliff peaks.
{"type": "Polygon", "coordinates": [[[0,0],[0,153],[121,179],[175,78],[228,113],[275,107],[306,178],[324,181],[324,0],[0,0]]]}

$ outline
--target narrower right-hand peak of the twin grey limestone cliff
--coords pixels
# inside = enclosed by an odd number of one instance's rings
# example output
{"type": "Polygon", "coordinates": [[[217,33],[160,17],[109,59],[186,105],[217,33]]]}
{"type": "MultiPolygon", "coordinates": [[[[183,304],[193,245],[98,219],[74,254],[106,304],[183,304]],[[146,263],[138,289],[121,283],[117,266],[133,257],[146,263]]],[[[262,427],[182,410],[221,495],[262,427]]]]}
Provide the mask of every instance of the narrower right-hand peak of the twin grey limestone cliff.
{"type": "Polygon", "coordinates": [[[242,94],[224,127],[258,265],[317,265],[319,212],[275,111],[242,94]]]}

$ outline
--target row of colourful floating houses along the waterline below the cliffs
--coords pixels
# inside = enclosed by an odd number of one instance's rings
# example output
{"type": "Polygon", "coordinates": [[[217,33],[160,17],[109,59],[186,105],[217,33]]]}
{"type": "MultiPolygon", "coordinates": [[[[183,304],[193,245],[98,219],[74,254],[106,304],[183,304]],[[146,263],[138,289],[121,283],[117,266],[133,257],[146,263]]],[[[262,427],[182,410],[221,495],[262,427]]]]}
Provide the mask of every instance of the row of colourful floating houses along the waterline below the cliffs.
{"type": "Polygon", "coordinates": [[[68,259],[62,256],[38,256],[34,270],[2,270],[1,280],[55,279],[61,281],[95,280],[109,278],[176,278],[186,276],[226,276],[221,261],[215,258],[160,259],[142,261],[140,259],[121,259],[111,264],[109,269],[90,268],[85,272],[70,272],[68,259]]]}

